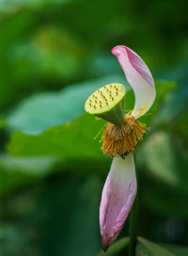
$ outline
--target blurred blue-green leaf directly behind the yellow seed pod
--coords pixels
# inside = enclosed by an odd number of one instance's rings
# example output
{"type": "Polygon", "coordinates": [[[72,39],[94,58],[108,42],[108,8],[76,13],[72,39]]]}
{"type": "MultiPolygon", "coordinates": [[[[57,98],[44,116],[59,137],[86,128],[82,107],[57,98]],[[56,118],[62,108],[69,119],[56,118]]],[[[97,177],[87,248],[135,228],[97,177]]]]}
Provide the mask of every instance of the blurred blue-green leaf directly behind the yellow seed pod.
{"type": "Polygon", "coordinates": [[[119,75],[75,84],[60,92],[45,92],[24,100],[7,119],[10,129],[39,133],[45,129],[74,120],[85,113],[86,98],[105,84],[126,80],[119,75]]]}

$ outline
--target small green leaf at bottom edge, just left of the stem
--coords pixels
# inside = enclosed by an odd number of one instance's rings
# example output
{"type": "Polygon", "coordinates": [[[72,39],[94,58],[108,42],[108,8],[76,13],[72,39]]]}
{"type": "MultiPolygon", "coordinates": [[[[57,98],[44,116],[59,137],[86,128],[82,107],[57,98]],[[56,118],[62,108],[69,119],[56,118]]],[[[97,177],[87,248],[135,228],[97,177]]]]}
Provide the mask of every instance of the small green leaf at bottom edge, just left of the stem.
{"type": "Polygon", "coordinates": [[[123,256],[125,255],[125,249],[129,245],[129,238],[121,238],[115,242],[106,252],[99,252],[95,256],[123,256]]]}

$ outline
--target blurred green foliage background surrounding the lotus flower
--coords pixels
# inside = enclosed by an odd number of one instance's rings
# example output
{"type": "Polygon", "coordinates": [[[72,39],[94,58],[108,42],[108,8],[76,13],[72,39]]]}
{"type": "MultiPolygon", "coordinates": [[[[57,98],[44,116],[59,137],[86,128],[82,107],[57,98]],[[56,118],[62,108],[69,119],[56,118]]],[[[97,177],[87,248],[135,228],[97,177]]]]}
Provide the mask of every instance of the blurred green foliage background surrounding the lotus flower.
{"type": "MultiPolygon", "coordinates": [[[[102,185],[111,159],[84,103],[107,83],[133,91],[111,49],[155,78],[149,136],[136,151],[137,255],[188,255],[186,1],[0,1],[0,255],[103,255],[102,185]],[[98,254],[99,253],[99,254],[98,254]],[[145,254],[143,254],[145,253],[145,254]]],[[[128,235],[129,220],[118,239],[128,235]]],[[[126,238],[105,255],[127,255],[126,238]]]]}

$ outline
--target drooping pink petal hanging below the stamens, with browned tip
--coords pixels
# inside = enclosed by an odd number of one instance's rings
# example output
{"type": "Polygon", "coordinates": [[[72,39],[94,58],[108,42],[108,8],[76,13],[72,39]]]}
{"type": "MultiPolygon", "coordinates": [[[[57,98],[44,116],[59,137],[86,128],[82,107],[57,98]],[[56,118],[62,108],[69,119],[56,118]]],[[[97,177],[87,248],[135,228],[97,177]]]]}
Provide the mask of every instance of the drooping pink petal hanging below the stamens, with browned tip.
{"type": "Polygon", "coordinates": [[[102,191],[100,228],[102,248],[111,246],[129,215],[136,195],[133,154],[115,157],[102,191]]]}

